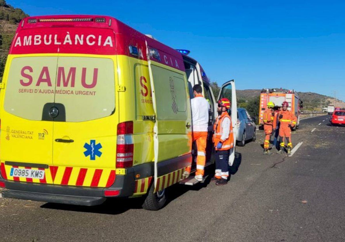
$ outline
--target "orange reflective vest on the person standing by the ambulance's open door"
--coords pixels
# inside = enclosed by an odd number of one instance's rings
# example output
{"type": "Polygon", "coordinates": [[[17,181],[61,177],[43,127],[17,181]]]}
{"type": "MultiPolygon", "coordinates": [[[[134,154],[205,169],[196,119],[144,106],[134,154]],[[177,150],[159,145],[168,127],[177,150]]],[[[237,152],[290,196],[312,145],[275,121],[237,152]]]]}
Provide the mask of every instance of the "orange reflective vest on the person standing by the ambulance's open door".
{"type": "Polygon", "coordinates": [[[220,116],[216,118],[216,123],[214,124],[214,131],[215,131],[215,133],[213,134],[214,146],[217,147],[219,141],[223,143],[221,148],[218,150],[229,150],[234,147],[233,125],[231,124],[231,118],[228,112],[223,112],[220,116]],[[229,127],[230,132],[229,132],[229,137],[225,140],[222,140],[221,139],[221,136],[223,134],[222,123],[224,119],[230,120],[230,127],[229,127]]]}

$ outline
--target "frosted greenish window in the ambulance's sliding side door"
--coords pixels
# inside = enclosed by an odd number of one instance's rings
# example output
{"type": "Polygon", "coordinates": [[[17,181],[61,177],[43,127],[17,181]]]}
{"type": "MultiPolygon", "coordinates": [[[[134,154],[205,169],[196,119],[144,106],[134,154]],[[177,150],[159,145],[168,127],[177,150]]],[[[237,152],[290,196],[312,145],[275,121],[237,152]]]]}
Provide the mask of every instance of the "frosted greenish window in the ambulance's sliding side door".
{"type": "Polygon", "coordinates": [[[157,120],[187,120],[184,75],[151,66],[157,102],[157,120]]]}

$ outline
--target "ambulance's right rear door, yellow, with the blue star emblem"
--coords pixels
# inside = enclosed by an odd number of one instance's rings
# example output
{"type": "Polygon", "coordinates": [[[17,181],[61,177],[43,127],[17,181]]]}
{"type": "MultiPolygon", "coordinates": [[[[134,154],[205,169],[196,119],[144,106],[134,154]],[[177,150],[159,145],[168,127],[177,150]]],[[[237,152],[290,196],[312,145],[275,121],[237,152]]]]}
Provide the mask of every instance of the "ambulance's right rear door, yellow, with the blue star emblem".
{"type": "MultiPolygon", "coordinates": [[[[90,36],[100,30],[82,31],[90,36]]],[[[115,43],[112,30],[98,33],[101,39],[110,36],[115,43]]],[[[97,55],[96,47],[92,48],[93,55],[69,54],[69,46],[60,48],[55,102],[49,107],[56,109],[54,184],[109,187],[115,180],[116,165],[116,56],[97,55]]]]}

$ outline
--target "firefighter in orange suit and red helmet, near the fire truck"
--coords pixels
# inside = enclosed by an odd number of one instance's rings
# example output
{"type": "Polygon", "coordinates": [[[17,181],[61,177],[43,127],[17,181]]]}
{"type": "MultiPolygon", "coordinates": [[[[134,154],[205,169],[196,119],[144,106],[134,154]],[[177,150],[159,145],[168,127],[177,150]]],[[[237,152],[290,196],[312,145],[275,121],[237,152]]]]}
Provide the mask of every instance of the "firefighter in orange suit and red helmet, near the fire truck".
{"type": "Polygon", "coordinates": [[[287,110],[289,103],[283,102],[283,111],[278,113],[278,120],[280,122],[279,127],[279,136],[280,136],[280,149],[277,153],[283,153],[285,148],[284,137],[286,137],[287,141],[287,154],[290,155],[292,149],[292,141],[291,141],[291,128],[296,125],[297,118],[295,114],[287,110]]]}

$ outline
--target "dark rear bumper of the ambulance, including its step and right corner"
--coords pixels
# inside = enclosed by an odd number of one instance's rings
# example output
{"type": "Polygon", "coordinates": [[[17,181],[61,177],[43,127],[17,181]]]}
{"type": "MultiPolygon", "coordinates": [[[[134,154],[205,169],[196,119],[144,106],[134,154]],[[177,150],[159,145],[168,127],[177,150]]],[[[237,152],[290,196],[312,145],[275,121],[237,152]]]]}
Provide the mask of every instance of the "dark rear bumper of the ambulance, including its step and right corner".
{"type": "Polygon", "coordinates": [[[0,181],[4,182],[6,189],[8,189],[2,192],[2,196],[6,198],[93,206],[106,200],[105,190],[117,190],[116,197],[133,195],[135,172],[133,167],[126,169],[126,175],[117,175],[114,184],[107,188],[16,182],[4,180],[1,174],[0,181]]]}

